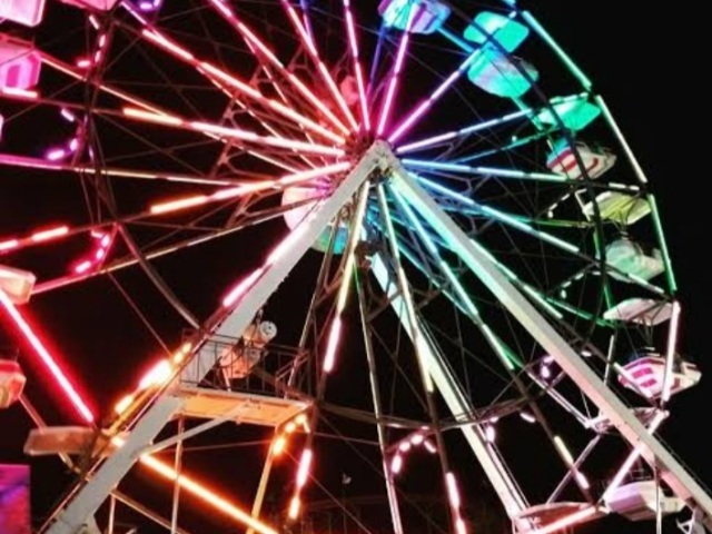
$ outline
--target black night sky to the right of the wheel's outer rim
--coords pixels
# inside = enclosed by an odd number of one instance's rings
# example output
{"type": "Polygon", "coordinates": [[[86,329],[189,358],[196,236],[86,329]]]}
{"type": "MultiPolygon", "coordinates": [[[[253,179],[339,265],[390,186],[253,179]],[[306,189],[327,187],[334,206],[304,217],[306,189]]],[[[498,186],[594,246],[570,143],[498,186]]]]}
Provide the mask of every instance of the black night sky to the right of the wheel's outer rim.
{"type": "MultiPolygon", "coordinates": [[[[636,10],[622,0],[522,3],[606,98],[657,196],[681,286],[681,350],[690,354],[703,372],[700,386],[674,399],[674,414],[663,435],[699,477],[712,485],[710,448],[701,432],[709,421],[704,411],[712,406],[712,386],[704,376],[712,373],[712,366],[703,337],[712,291],[701,258],[708,255],[703,247],[709,243],[703,226],[706,154],[702,137],[693,134],[702,128],[701,105],[706,97],[703,82],[698,81],[705,69],[694,48],[701,41],[695,30],[699,23],[688,20],[695,13],[688,12],[683,18],[670,4],[652,2],[645,9],[641,3],[636,10]]],[[[0,414],[0,426],[2,421],[0,414]]],[[[0,462],[18,461],[21,456],[17,453],[2,452],[0,462]]]]}

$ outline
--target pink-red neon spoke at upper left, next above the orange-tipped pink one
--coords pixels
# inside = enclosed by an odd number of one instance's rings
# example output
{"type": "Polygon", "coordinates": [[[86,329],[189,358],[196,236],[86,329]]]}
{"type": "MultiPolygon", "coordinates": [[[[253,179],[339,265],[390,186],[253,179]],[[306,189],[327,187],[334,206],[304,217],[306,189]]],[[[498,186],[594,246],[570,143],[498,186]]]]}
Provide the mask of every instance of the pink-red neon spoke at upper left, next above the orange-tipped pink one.
{"type": "Polygon", "coordinates": [[[239,91],[240,93],[264,103],[265,106],[274,109],[281,116],[294,120],[298,125],[305,128],[308,128],[309,130],[320,135],[322,137],[330,139],[339,145],[343,145],[345,142],[343,137],[335,135],[334,132],[324,128],[323,126],[314,122],[313,120],[304,117],[303,115],[299,115],[294,109],[285,106],[284,103],[265,97],[261,92],[259,92],[257,89],[251,87],[249,83],[225,72],[222,69],[214,66],[212,63],[197,59],[188,50],[182,48],[177,42],[170,40],[162,33],[158,32],[157,30],[144,29],[141,30],[141,36],[144,36],[148,42],[156,44],[157,47],[161,48],[166,52],[170,53],[172,57],[180,59],[185,63],[192,66],[196,70],[198,70],[204,76],[206,76],[210,81],[216,83],[218,87],[227,86],[235,91],[239,91]]]}

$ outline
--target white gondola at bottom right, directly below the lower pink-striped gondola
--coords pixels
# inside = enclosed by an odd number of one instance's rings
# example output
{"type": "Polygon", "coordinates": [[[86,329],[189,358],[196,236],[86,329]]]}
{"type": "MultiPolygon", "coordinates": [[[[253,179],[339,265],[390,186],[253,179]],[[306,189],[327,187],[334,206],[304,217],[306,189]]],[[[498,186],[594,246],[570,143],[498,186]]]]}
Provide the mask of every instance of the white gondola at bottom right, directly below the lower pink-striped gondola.
{"type": "Polygon", "coordinates": [[[636,481],[623,484],[612,492],[605,504],[611,512],[621,514],[631,521],[654,520],[657,514],[657,502],[663,516],[682,511],[685,503],[679,497],[669,496],[655,481],[636,481]]]}

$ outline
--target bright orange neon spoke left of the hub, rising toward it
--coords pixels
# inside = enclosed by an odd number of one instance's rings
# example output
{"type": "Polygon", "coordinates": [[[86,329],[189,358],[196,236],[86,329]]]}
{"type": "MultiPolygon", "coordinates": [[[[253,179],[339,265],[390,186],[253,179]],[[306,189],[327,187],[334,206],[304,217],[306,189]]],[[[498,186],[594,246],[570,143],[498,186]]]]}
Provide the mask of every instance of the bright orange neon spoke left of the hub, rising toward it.
{"type": "Polygon", "coordinates": [[[202,206],[212,201],[228,200],[237,197],[241,197],[253,192],[259,192],[265,190],[279,190],[287,186],[294,186],[305,181],[310,181],[315,178],[322,178],[325,176],[332,176],[337,172],[343,172],[350,167],[350,162],[344,161],[327,167],[320,167],[318,169],[309,169],[303,172],[295,172],[294,175],[287,175],[275,180],[263,180],[254,184],[246,184],[244,186],[231,187],[227,189],[220,189],[211,195],[196,195],[192,197],[185,197],[181,199],[169,200],[166,202],[155,204],[150,207],[152,215],[164,215],[174,212],[180,209],[192,208],[196,206],[202,206]]]}

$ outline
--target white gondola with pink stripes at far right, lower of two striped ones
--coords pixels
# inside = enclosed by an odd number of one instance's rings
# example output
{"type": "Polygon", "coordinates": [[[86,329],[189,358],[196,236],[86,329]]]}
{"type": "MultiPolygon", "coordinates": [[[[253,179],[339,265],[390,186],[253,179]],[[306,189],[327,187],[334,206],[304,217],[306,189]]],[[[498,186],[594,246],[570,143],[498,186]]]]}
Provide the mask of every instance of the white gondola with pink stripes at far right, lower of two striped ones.
{"type": "MultiPolygon", "coordinates": [[[[663,393],[665,377],[665,357],[653,352],[642,352],[635,359],[623,366],[624,373],[619,382],[633,390],[641,390],[650,398],[657,398],[663,393]]],[[[670,393],[680,393],[696,385],[702,373],[696,365],[676,357],[670,379],[670,393]]]]}

